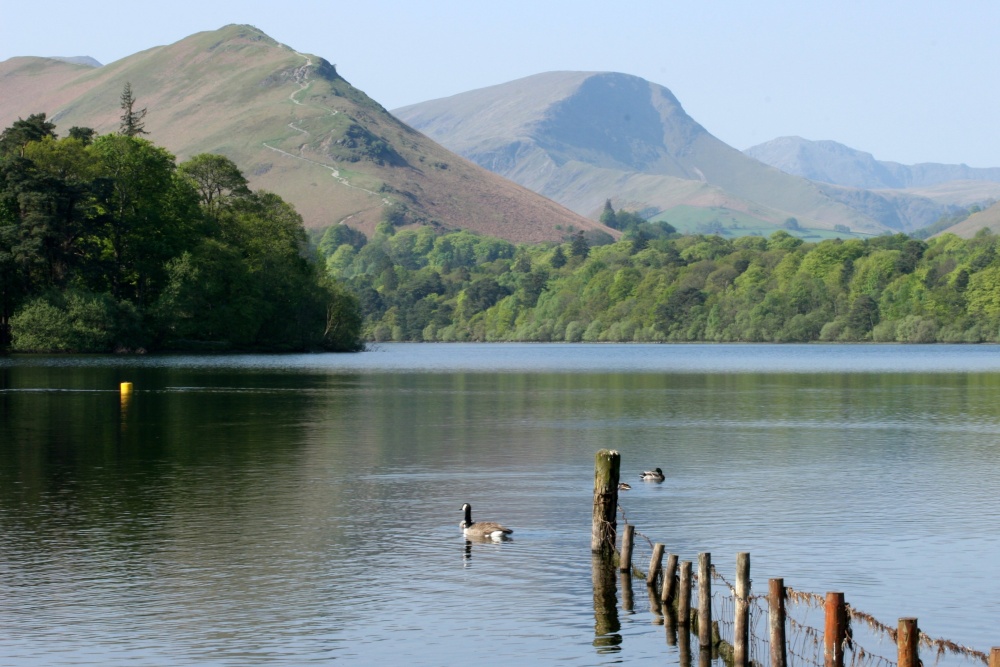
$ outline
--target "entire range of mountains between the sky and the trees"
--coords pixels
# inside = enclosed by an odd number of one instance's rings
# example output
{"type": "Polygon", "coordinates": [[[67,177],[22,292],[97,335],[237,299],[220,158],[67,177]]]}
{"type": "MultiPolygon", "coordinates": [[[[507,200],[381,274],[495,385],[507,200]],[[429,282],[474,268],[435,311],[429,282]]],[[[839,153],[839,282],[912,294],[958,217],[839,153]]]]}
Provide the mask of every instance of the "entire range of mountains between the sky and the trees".
{"type": "Polygon", "coordinates": [[[389,113],[323,58],[251,26],[98,65],[0,63],[0,126],[46,112],[62,133],[115,131],[130,82],[151,140],[180,160],[230,157],[314,228],[371,234],[392,218],[560,240],[615,234],[596,221],[611,200],[681,231],[819,239],[910,232],[1000,198],[1000,169],[906,166],[796,137],[740,151],[667,88],[614,72],[548,72],[389,113]]]}

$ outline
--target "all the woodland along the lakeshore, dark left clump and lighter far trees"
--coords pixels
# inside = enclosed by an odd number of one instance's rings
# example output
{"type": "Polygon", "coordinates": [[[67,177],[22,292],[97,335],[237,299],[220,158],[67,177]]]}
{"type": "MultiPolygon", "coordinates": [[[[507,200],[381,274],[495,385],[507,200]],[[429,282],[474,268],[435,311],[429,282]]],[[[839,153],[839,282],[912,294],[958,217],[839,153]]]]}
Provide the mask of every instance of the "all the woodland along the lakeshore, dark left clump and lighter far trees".
{"type": "Polygon", "coordinates": [[[370,341],[1000,341],[998,238],[620,232],[514,245],[302,220],[219,155],[177,164],[44,114],[0,134],[0,347],[358,350],[370,341]]]}

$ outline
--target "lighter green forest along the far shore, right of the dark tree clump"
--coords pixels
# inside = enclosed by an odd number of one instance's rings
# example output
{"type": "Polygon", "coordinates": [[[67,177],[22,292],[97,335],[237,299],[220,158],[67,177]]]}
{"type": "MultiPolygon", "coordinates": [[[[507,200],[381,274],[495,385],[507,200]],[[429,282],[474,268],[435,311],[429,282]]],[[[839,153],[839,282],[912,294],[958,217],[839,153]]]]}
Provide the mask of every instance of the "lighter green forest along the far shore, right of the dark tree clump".
{"type": "Polygon", "coordinates": [[[656,238],[626,221],[595,247],[388,224],[371,240],[331,227],[318,245],[376,341],[1000,341],[988,232],[805,243],[656,238]]]}

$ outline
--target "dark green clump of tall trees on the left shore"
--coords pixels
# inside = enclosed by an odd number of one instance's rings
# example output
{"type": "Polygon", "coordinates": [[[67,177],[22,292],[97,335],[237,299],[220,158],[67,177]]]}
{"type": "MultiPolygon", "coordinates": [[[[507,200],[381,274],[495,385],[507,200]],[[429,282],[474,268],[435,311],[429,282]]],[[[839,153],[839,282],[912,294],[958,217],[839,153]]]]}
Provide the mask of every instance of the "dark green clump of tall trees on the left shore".
{"type": "Polygon", "coordinates": [[[357,350],[357,300],[302,220],[218,155],[178,165],[143,138],[45,114],[0,135],[0,349],[357,350]]]}

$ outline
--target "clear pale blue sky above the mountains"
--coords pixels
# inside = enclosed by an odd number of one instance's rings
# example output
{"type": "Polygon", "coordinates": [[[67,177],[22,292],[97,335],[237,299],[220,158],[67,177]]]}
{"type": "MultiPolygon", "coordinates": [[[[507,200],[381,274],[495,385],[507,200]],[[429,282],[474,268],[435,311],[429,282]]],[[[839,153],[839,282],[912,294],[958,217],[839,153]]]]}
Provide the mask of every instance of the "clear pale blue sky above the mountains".
{"type": "Polygon", "coordinates": [[[799,135],[905,164],[1000,167],[1000,3],[985,0],[0,0],[0,60],[109,63],[228,23],[336,63],[389,109],[617,71],[666,86],[735,148],[799,135]]]}

